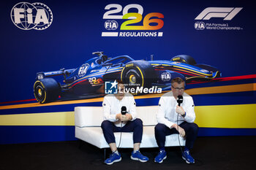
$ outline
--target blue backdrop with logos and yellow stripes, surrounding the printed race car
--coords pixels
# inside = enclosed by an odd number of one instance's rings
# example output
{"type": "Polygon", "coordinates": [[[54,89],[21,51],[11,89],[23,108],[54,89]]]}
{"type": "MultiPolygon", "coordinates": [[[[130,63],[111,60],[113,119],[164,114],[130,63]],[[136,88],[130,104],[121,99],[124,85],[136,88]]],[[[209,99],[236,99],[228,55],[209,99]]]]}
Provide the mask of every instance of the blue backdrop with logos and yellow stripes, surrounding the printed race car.
{"type": "MultiPolygon", "coordinates": [[[[187,54],[216,66],[218,82],[187,85],[199,136],[256,134],[250,1],[4,0],[1,7],[1,144],[74,140],[74,107],[99,107],[102,98],[38,104],[33,85],[37,72],[78,68],[95,51],[135,60],[187,54]]],[[[135,100],[157,105],[159,96],[135,100]]]]}

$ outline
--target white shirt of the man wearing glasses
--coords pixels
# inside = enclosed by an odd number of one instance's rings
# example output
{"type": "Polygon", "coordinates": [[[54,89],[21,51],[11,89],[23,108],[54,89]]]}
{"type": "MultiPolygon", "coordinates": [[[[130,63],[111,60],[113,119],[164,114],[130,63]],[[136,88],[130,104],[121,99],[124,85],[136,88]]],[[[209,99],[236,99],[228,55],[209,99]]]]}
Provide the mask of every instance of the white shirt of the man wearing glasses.
{"type": "Polygon", "coordinates": [[[177,125],[183,123],[184,121],[188,123],[193,123],[195,121],[195,105],[193,98],[187,93],[183,94],[183,102],[181,107],[186,112],[186,116],[182,117],[176,112],[176,106],[178,105],[177,100],[173,96],[173,92],[165,93],[159,100],[159,109],[157,112],[157,122],[165,124],[170,128],[173,123],[177,125]],[[178,122],[177,122],[178,115],[178,122]]]}

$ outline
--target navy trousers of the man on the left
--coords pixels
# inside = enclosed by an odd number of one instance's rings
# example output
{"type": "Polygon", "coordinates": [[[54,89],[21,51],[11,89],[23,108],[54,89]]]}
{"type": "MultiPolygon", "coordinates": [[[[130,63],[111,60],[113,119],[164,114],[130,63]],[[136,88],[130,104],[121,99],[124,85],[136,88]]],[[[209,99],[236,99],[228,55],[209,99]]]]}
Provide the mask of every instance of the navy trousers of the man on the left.
{"type": "Polygon", "coordinates": [[[102,122],[102,131],[108,144],[116,143],[114,132],[133,132],[133,143],[141,143],[143,134],[143,123],[140,119],[128,121],[124,127],[116,127],[113,122],[104,120],[102,122]]]}

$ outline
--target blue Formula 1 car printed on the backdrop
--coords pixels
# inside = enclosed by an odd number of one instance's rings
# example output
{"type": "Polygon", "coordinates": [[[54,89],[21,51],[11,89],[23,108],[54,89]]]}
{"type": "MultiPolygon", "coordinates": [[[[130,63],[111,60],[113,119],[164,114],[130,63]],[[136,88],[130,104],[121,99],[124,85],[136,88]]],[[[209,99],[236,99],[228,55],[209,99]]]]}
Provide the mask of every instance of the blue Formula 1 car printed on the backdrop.
{"type": "Polygon", "coordinates": [[[214,66],[197,64],[189,55],[177,55],[170,61],[135,61],[128,55],[108,58],[103,52],[89,59],[76,69],[60,69],[54,72],[38,72],[34,83],[34,96],[40,104],[79,98],[104,96],[106,80],[121,80],[130,86],[157,86],[170,89],[170,80],[181,77],[186,82],[212,80],[221,73],[214,66]],[[58,81],[53,77],[62,75],[58,81]]]}

